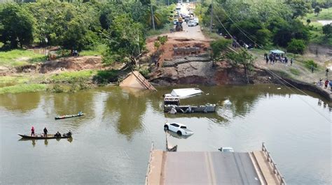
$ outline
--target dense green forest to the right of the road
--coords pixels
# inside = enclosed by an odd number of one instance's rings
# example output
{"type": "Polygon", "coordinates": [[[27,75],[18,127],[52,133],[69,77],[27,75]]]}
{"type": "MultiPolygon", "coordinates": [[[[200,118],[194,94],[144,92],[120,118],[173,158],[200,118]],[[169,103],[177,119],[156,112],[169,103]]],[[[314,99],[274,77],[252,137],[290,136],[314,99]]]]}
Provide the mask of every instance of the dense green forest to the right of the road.
{"type": "Polygon", "coordinates": [[[301,54],[321,29],[324,35],[318,43],[332,45],[331,24],[319,28],[311,25],[310,19],[303,21],[309,13],[317,16],[323,8],[331,8],[331,0],[214,0],[213,6],[212,1],[203,1],[195,13],[207,29],[212,7],[212,32],[230,34],[248,45],[278,45],[301,54]]]}

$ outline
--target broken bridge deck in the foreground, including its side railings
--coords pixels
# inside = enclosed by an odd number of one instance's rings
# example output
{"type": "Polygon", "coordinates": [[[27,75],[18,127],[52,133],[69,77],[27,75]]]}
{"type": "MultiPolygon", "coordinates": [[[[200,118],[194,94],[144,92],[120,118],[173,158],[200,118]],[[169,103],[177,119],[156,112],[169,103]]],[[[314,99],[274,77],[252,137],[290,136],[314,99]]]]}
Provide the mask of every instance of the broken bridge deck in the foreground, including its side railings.
{"type": "Polygon", "coordinates": [[[152,150],[146,184],[286,184],[265,151],[152,150]]]}

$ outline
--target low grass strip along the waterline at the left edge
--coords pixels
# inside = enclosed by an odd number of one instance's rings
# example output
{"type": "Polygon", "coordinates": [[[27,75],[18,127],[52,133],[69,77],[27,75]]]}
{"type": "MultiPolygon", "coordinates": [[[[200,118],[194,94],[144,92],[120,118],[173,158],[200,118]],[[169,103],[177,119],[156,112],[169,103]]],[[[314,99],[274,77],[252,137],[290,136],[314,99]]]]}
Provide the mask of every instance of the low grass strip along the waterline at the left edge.
{"type": "Polygon", "coordinates": [[[0,94],[44,91],[46,88],[46,84],[15,84],[9,87],[0,87],[0,94]]]}

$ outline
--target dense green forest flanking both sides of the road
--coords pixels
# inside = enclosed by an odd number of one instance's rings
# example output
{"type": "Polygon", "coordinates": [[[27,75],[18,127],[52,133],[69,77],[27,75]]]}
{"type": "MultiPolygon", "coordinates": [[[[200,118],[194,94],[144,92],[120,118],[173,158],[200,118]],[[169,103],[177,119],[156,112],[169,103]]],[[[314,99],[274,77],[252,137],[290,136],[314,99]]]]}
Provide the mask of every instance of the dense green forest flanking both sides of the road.
{"type": "MultiPolygon", "coordinates": [[[[139,57],[151,29],[169,26],[176,0],[16,0],[0,3],[0,47],[60,45],[67,50],[88,50],[107,45],[106,61],[139,57]],[[152,18],[153,17],[153,18],[152,18]],[[155,25],[153,27],[152,22],[155,25]]],[[[211,20],[212,1],[200,1],[195,14],[206,28],[211,20]]],[[[310,27],[303,17],[332,7],[332,0],[214,0],[214,32],[231,34],[249,45],[279,45],[302,53],[310,42],[310,27]],[[229,33],[228,33],[229,32],[229,33]]],[[[331,24],[322,27],[331,39],[331,24]]],[[[327,42],[327,43],[328,43],[327,42]]]]}

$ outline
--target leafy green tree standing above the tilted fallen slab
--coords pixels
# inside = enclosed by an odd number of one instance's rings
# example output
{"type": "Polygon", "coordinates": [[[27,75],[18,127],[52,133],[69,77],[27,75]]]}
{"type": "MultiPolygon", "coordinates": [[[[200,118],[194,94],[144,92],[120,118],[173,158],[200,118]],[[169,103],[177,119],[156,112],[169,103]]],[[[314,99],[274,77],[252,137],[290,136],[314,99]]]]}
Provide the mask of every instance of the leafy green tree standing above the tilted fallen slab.
{"type": "Polygon", "coordinates": [[[104,63],[106,64],[111,64],[113,61],[122,61],[136,65],[141,50],[145,46],[142,25],[134,22],[127,14],[115,17],[106,40],[109,47],[104,56],[104,63]]]}

